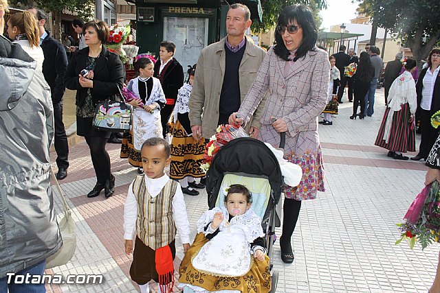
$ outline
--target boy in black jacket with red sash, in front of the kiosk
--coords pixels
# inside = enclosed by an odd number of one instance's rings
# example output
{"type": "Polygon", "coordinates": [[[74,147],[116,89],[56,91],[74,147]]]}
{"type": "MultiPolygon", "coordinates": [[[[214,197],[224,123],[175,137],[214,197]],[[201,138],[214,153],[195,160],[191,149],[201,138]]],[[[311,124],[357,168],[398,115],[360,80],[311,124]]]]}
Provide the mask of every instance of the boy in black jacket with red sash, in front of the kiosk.
{"type": "Polygon", "coordinates": [[[180,63],[173,58],[176,45],[169,40],[163,40],[160,43],[159,58],[154,65],[155,78],[159,78],[164,90],[166,104],[160,110],[160,119],[162,121],[162,134],[166,139],[168,133],[168,120],[173,113],[174,105],[177,99],[177,93],[184,85],[184,69],[180,63]]]}

